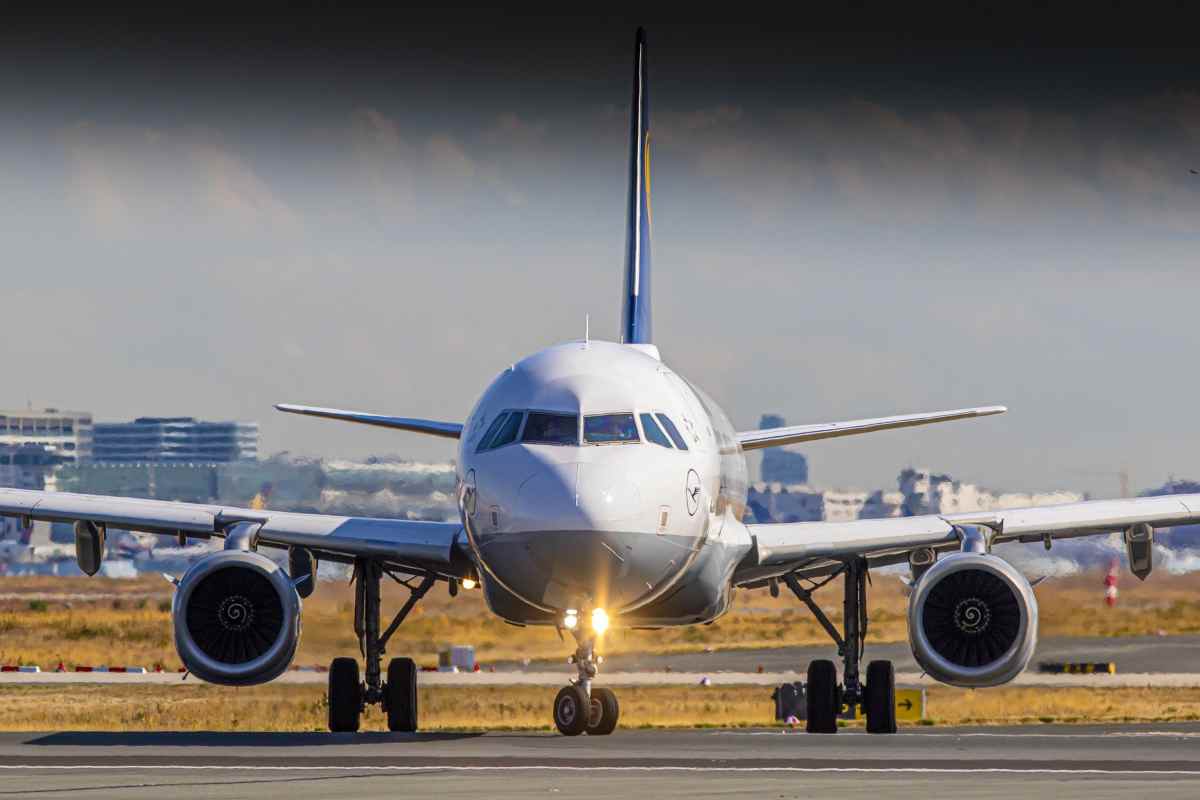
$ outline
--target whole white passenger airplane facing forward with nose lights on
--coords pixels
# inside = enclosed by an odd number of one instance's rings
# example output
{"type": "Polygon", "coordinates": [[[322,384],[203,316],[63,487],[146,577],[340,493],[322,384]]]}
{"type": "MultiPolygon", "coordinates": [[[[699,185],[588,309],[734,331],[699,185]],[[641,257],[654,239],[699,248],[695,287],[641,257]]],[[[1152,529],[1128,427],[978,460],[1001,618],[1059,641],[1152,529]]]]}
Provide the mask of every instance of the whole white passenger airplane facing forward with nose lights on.
{"type": "Polygon", "coordinates": [[[894,733],[895,673],[862,660],[871,570],[907,564],[910,644],[920,667],[954,686],[995,686],[1026,668],[1037,643],[1028,581],[992,553],[1001,542],[1121,533],[1130,567],[1152,567],[1156,528],[1200,522],[1200,494],[1073,503],[980,513],[853,522],[744,522],[745,453],[804,441],[966,420],[985,405],[845,422],[736,431],[721,408],[672,371],[654,344],[650,261],[650,127],[646,34],[638,29],[630,113],[628,227],[620,341],[584,337],[504,368],[464,422],[280,404],[281,411],[454,439],[456,522],[290,513],[266,509],[0,489],[0,515],[74,523],[80,569],[95,575],[106,530],[223,539],[179,578],[175,645],[197,678],[270,681],[300,638],[302,599],[317,560],[353,565],[353,625],[365,657],[329,669],[328,724],[359,729],[378,705],[390,730],[418,729],[416,667],[389,639],[437,583],[482,589],[488,609],[516,626],[554,626],[575,640],[576,676],[556,696],[565,735],[606,735],[619,718],[596,681],[596,649],[612,626],[712,622],[738,589],[786,587],[820,621],[841,662],[808,666],[806,729],[836,733],[842,706],[870,733],[894,733]],[[260,551],[284,548],[287,567],[260,551]],[[844,579],[839,630],[814,590],[844,579]],[[407,601],[380,630],[380,583],[407,601]]]}

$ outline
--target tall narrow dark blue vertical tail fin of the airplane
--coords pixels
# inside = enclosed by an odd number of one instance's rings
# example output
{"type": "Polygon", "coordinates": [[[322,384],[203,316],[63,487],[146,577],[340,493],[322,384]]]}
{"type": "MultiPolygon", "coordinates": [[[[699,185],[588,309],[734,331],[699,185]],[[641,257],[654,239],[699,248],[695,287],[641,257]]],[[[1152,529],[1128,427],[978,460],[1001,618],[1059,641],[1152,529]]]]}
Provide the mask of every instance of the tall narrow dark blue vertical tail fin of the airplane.
{"type": "Polygon", "coordinates": [[[620,338],[650,344],[650,127],[646,100],[646,31],[637,29],[634,104],[629,122],[629,223],[625,229],[625,300],[620,338]]]}

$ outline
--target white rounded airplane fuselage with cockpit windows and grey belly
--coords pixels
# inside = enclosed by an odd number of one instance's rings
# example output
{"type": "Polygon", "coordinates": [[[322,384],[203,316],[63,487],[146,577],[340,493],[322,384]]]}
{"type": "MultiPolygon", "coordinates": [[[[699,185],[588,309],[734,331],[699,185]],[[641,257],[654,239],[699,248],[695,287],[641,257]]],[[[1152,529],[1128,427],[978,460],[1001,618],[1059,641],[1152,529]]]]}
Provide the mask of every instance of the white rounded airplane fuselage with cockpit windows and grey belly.
{"type": "Polygon", "coordinates": [[[733,427],[650,345],[571,342],[505,369],[463,428],[458,480],[488,603],[515,622],[708,621],[751,545],[733,427]]]}

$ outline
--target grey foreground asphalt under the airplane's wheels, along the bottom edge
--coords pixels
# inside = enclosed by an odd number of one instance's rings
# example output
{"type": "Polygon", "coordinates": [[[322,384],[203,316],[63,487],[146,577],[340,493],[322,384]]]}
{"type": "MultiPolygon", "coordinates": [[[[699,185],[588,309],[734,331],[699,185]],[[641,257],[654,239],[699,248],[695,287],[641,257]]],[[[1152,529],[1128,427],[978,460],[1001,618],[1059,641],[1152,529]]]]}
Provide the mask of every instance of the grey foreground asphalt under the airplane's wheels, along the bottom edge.
{"type": "Polygon", "coordinates": [[[0,734],[0,796],[1195,798],[1200,724],[552,734],[0,734]],[[936,793],[936,795],[935,795],[936,793]]]}

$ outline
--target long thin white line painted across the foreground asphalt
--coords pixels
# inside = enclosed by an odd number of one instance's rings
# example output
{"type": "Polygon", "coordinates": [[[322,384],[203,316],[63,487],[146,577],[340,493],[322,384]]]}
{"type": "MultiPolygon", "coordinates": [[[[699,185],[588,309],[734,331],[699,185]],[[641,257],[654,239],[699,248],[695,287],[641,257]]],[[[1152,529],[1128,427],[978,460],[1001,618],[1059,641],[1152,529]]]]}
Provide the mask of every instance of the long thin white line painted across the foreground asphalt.
{"type": "Polygon", "coordinates": [[[0,770],[76,770],[76,771],[121,771],[121,770],[155,770],[155,771],[221,771],[221,772],[512,772],[512,771],[546,771],[546,772],[851,772],[851,774],[938,774],[938,775],[1128,775],[1128,776],[1189,776],[1200,777],[1200,766],[1194,770],[1126,770],[1126,769],[1056,769],[1052,766],[984,766],[979,769],[965,766],[566,766],[552,764],[528,764],[528,765],[497,765],[497,766],[463,766],[448,764],[420,765],[379,765],[379,766],[344,766],[344,765],[304,765],[304,766],[275,766],[268,764],[0,764],[0,770]]]}

